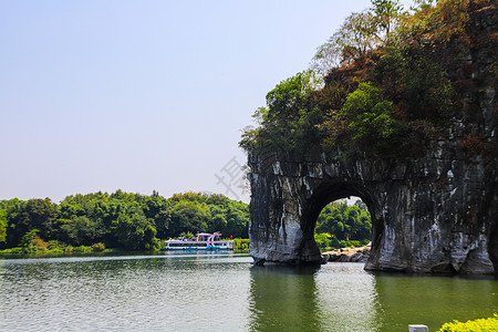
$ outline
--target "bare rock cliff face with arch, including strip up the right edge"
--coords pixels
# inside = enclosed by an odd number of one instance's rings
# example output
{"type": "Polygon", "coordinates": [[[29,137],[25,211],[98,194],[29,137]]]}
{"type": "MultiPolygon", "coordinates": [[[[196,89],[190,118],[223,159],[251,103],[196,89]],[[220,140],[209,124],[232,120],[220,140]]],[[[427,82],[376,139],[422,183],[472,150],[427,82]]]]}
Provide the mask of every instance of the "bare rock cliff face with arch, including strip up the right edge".
{"type": "MultiPolygon", "coordinates": [[[[483,35],[496,39],[496,18],[494,7],[473,12],[475,44],[486,44],[478,43],[483,35]]],[[[317,149],[305,158],[250,154],[249,234],[256,262],[319,262],[313,238],[318,215],[335,199],[359,196],[373,225],[366,269],[497,272],[494,52],[474,48],[467,54],[476,121],[454,117],[418,157],[361,153],[344,158],[339,149],[317,149]]]]}

